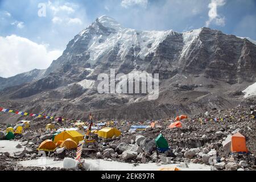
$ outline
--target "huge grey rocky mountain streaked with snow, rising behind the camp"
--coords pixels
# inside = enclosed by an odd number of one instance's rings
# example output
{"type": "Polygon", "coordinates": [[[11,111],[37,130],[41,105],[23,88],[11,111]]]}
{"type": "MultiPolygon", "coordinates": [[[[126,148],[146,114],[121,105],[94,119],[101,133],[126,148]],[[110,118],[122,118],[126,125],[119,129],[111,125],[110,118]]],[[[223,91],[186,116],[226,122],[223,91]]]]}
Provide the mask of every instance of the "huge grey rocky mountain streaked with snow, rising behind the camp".
{"type": "Polygon", "coordinates": [[[256,46],[210,28],[138,31],[101,16],[76,35],[45,72],[29,78],[10,88],[1,84],[1,102],[72,119],[87,118],[90,112],[114,119],[198,114],[243,103],[241,91],[256,82],[256,46]],[[110,68],[115,74],[159,73],[159,98],[99,94],[97,76],[110,68]]]}

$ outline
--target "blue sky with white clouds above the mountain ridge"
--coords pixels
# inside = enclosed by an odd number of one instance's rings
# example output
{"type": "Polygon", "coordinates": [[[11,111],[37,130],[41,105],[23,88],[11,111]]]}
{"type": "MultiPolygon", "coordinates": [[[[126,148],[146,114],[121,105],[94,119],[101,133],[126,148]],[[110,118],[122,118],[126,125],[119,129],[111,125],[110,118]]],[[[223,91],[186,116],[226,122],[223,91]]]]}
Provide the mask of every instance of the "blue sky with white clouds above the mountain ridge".
{"type": "Polygon", "coordinates": [[[139,30],[210,27],[256,40],[255,0],[0,0],[0,76],[47,68],[69,40],[104,14],[139,30]],[[45,5],[46,16],[38,16],[39,3],[45,5]],[[36,62],[31,54],[39,50],[44,55],[36,62]],[[18,67],[14,73],[7,61],[18,67]]]}

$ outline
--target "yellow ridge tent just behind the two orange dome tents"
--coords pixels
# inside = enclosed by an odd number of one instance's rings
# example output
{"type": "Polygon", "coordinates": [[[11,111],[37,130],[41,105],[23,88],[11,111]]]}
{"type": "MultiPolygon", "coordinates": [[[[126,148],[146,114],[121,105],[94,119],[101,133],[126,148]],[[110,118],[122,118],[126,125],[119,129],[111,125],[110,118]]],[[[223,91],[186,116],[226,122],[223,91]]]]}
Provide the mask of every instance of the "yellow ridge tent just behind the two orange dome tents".
{"type": "Polygon", "coordinates": [[[55,136],[53,142],[57,143],[59,140],[66,140],[68,138],[74,140],[77,144],[79,144],[79,142],[84,139],[84,136],[77,131],[63,131],[55,136]]]}

